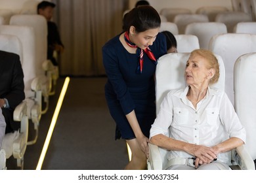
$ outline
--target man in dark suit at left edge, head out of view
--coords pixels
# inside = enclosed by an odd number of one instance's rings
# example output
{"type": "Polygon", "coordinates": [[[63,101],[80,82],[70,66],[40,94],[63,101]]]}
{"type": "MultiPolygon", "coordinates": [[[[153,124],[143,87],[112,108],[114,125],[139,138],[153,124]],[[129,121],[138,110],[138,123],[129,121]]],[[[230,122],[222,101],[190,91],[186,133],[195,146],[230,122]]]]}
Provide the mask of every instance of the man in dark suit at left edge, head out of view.
{"type": "Polygon", "coordinates": [[[20,57],[0,51],[0,107],[6,122],[5,133],[20,128],[20,123],[13,120],[13,111],[25,99],[23,78],[20,57]]]}

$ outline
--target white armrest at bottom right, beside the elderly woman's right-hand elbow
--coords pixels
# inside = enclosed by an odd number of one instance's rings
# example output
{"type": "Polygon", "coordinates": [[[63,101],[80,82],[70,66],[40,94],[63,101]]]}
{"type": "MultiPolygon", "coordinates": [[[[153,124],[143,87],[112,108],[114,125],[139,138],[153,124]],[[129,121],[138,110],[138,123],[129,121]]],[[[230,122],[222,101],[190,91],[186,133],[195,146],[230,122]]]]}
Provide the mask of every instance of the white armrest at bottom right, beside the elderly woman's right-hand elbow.
{"type": "Polygon", "coordinates": [[[232,158],[238,163],[242,170],[255,170],[253,158],[245,148],[245,145],[239,146],[234,150],[232,158]]]}

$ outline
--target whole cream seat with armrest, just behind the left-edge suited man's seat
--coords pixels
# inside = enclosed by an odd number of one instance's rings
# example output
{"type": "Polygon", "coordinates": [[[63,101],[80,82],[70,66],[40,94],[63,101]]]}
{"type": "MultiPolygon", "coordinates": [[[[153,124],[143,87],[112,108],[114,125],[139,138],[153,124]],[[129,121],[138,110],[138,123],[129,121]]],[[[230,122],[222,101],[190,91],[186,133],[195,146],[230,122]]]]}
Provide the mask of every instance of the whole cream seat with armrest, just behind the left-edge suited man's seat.
{"type": "Polygon", "coordinates": [[[21,25],[1,25],[0,34],[15,35],[22,44],[22,69],[24,72],[26,105],[28,107],[28,118],[33,122],[35,137],[28,144],[34,144],[37,141],[39,122],[41,120],[42,89],[43,80],[36,75],[35,66],[35,33],[32,27],[21,25]]]}

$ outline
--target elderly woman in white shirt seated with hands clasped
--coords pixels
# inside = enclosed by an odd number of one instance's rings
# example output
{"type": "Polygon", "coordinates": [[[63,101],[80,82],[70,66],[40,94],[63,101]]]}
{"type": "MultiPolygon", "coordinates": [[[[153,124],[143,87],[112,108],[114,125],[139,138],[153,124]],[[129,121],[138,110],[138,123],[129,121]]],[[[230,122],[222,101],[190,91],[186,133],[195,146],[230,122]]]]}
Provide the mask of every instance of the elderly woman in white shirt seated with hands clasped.
{"type": "Polygon", "coordinates": [[[194,50],[184,76],[188,86],[167,93],[150,142],[170,150],[168,169],[229,169],[230,150],[244,144],[246,134],[226,93],[211,87],[219,79],[217,58],[194,50]]]}

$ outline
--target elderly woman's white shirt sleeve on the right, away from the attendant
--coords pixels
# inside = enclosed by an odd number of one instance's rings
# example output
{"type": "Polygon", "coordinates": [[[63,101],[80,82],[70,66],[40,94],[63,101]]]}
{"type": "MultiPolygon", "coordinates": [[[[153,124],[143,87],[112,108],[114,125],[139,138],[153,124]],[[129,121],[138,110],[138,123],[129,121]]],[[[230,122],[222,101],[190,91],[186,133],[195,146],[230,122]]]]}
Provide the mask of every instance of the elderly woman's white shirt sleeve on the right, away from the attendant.
{"type": "Polygon", "coordinates": [[[236,114],[234,107],[228,99],[226,93],[223,93],[223,98],[221,101],[220,118],[229,137],[237,137],[245,143],[245,129],[242,126],[238,115],[236,114]]]}

